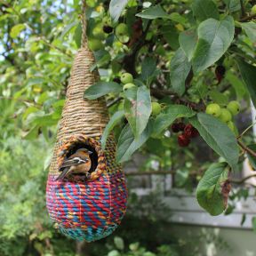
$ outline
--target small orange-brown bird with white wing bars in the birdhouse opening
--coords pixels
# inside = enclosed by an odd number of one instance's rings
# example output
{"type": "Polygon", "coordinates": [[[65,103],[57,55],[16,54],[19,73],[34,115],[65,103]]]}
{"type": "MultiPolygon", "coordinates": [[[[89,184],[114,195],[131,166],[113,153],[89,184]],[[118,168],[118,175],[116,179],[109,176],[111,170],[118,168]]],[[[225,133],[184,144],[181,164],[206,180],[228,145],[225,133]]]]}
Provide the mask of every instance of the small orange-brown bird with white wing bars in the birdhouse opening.
{"type": "Polygon", "coordinates": [[[84,173],[85,177],[87,177],[92,166],[90,155],[92,155],[92,151],[87,148],[77,149],[75,154],[69,156],[61,164],[59,168],[59,172],[61,173],[56,180],[64,180],[69,174],[84,173]]]}

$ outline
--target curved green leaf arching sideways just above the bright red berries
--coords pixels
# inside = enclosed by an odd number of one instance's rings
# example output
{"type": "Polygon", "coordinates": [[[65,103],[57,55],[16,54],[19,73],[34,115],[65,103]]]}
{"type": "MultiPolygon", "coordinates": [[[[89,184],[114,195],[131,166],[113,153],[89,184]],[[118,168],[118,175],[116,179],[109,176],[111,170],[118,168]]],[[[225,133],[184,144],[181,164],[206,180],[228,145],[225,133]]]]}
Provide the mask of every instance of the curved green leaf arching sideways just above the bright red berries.
{"type": "Polygon", "coordinates": [[[153,135],[157,136],[164,132],[164,130],[170,126],[177,118],[192,117],[196,113],[183,105],[171,105],[165,109],[164,113],[161,113],[156,117],[153,128],[153,135]]]}

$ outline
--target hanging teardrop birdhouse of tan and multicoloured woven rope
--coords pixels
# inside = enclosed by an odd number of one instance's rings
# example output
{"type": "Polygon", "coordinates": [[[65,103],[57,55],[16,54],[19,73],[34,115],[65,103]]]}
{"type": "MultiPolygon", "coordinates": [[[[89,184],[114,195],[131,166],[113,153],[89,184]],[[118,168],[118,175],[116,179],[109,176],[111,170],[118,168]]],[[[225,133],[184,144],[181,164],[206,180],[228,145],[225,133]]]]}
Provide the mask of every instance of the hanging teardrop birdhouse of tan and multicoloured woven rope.
{"type": "MultiPolygon", "coordinates": [[[[52,156],[46,188],[46,204],[55,227],[76,240],[92,242],[110,235],[126,210],[124,172],[116,164],[116,143],[109,137],[105,150],[100,137],[108,124],[104,99],[84,100],[84,91],[98,81],[95,63],[87,47],[85,18],[82,48],[77,52],[68,84],[67,99],[52,156]],[[92,151],[92,167],[86,179],[56,180],[60,165],[77,148],[92,151]]],[[[83,178],[83,177],[82,177],[83,178]]]]}

